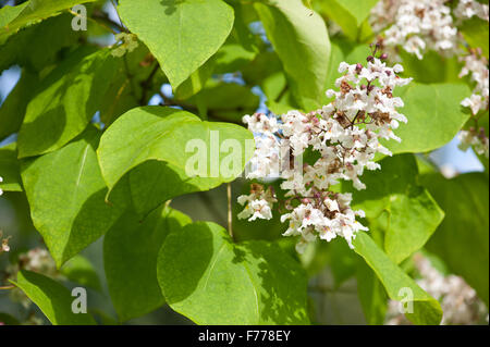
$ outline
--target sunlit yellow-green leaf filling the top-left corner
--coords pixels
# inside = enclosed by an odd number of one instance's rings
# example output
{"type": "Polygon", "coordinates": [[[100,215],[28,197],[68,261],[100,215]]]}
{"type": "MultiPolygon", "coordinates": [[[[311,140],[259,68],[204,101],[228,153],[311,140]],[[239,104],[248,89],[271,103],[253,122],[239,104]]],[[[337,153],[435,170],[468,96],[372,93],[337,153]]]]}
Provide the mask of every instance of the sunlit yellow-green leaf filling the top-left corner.
{"type": "MultiPolygon", "coordinates": [[[[60,14],[60,11],[75,4],[94,1],[96,0],[29,0],[15,8],[5,7],[0,12],[0,45],[29,24],[60,14]]],[[[66,28],[70,29],[71,27],[66,28]]]]}

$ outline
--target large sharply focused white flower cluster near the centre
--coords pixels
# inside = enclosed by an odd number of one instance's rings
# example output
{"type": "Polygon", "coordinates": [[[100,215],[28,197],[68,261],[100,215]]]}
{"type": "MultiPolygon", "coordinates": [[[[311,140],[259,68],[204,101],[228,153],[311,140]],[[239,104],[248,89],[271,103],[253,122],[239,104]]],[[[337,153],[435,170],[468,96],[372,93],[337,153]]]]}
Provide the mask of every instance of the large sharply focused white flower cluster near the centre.
{"type": "MultiPolygon", "coordinates": [[[[275,175],[283,179],[284,207],[290,211],[281,215],[282,222],[289,221],[283,235],[302,236],[296,247],[299,252],[317,236],[327,241],[341,236],[352,248],[356,233],[367,231],[356,221],[364,212],[351,209],[352,195],[330,188],[341,181],[352,181],[356,189],[366,188],[359,176],[365,169],[380,169],[375,154],[391,156],[379,139],[400,141],[392,129],[407,120],[396,111],[403,101],[392,91],[412,78],[399,77],[403,67],[387,66],[385,58],[370,55],[367,66],[342,62],[339,72],[343,76],[335,82],[340,90],[328,90],[327,96],[334,100],[320,110],[308,114],[290,111],[279,119],[260,113],[243,119],[257,144],[247,178],[275,175]],[[306,151],[318,159],[303,164],[306,151]]],[[[275,201],[272,190],[255,185],[250,195],[238,197],[240,203],[246,203],[238,218],[270,219],[275,201]]]]}

